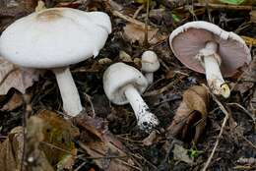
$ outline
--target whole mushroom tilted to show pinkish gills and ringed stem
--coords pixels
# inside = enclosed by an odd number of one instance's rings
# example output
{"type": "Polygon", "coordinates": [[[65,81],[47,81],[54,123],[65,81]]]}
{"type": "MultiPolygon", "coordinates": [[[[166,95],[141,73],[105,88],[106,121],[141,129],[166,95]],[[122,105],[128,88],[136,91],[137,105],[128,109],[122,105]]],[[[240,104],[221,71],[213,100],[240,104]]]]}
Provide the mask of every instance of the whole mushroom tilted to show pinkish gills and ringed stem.
{"type": "Polygon", "coordinates": [[[169,44],[181,63],[205,73],[212,91],[225,98],[230,90],[223,76],[232,76],[251,61],[250,50],[239,35],[208,22],[190,22],[176,28],[169,35],[169,44]]]}

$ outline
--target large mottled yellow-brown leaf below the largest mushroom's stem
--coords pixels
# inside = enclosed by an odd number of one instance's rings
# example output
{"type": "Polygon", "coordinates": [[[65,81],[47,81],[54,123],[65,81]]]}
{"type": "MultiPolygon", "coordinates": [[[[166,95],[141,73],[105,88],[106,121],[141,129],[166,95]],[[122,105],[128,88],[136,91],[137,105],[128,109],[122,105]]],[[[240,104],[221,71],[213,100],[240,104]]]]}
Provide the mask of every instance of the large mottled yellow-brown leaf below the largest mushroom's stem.
{"type": "Polygon", "coordinates": [[[78,128],[59,117],[56,113],[43,110],[37,114],[43,120],[43,143],[40,148],[44,151],[51,165],[58,168],[70,168],[74,164],[77,149],[73,140],[79,136],[78,128]]]}

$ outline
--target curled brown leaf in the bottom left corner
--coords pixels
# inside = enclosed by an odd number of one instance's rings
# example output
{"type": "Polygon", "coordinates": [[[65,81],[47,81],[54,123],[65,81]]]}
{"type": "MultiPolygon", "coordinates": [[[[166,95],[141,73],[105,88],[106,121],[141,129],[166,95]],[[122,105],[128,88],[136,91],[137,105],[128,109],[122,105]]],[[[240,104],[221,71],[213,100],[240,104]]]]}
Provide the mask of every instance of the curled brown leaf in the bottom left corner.
{"type": "Polygon", "coordinates": [[[21,170],[23,145],[23,128],[16,127],[10,132],[5,142],[0,144],[0,170],[21,170]]]}

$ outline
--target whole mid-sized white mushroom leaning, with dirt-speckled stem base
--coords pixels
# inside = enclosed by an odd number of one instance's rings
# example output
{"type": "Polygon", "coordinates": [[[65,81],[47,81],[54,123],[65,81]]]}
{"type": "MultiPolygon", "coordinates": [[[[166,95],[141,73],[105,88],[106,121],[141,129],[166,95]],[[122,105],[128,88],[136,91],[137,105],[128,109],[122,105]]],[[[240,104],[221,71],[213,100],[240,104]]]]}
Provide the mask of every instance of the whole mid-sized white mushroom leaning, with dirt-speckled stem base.
{"type": "Polygon", "coordinates": [[[141,97],[140,93],[147,86],[148,81],[142,73],[124,63],[111,65],[103,74],[103,87],[108,99],[117,105],[130,103],[139,128],[149,133],[159,121],[141,97]]]}

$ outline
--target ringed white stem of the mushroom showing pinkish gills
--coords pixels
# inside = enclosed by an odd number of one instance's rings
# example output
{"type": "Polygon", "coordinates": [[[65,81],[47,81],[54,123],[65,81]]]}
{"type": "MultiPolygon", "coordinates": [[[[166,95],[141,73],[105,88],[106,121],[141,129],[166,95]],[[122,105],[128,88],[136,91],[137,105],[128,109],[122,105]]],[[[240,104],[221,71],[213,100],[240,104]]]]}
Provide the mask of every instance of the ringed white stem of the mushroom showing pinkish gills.
{"type": "Polygon", "coordinates": [[[206,72],[208,85],[215,94],[222,94],[225,98],[230,95],[230,89],[225,84],[223,75],[220,70],[221,57],[217,54],[218,45],[210,41],[206,47],[201,50],[203,55],[203,64],[206,72]]]}

